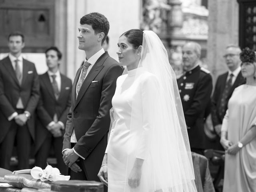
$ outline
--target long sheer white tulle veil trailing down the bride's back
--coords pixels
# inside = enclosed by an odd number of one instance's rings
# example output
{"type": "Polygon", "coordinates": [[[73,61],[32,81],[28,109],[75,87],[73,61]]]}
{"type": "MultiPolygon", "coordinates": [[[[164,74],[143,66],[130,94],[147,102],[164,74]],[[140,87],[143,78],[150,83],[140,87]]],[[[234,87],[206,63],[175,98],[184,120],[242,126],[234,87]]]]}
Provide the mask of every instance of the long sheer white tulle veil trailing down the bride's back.
{"type": "MultiPolygon", "coordinates": [[[[141,59],[138,68],[150,72],[158,87],[148,103],[150,130],[147,131],[148,158],[142,167],[141,184],[129,192],[196,192],[192,156],[182,110],[176,76],[169,64],[167,51],[153,31],[144,31],[141,59]]],[[[127,74],[127,69],[123,74],[127,74]]],[[[135,79],[140,73],[136,74],[135,79]]],[[[132,104],[130,127],[136,126],[132,104]]],[[[112,122],[114,115],[112,114],[112,122]]],[[[134,164],[127,158],[127,169],[134,164]]],[[[130,171],[127,171],[126,178],[130,171]]],[[[127,188],[128,189],[128,188],[127,188]]]]}

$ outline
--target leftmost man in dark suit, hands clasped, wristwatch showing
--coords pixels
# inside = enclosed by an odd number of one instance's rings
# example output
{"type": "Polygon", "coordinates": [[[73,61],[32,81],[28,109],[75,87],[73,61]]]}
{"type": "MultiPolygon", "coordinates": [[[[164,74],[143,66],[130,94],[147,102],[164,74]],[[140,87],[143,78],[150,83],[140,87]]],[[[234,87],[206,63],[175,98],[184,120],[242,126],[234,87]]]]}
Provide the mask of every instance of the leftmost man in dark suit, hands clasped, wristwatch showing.
{"type": "Polygon", "coordinates": [[[34,63],[21,56],[24,46],[23,34],[10,34],[10,53],[0,61],[0,167],[8,170],[14,140],[18,169],[28,169],[30,146],[35,139],[34,110],[39,100],[39,82],[34,63]]]}

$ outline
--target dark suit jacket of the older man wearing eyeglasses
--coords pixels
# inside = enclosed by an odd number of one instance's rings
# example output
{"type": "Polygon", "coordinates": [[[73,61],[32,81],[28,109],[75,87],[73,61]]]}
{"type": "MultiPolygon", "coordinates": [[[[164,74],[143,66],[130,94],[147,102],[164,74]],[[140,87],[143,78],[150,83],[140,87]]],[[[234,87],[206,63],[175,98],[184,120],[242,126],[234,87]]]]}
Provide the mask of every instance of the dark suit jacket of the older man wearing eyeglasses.
{"type": "MultiPolygon", "coordinates": [[[[218,108],[220,107],[220,100],[221,100],[221,96],[222,93],[224,91],[224,88],[226,86],[226,80],[228,78],[228,72],[218,76],[217,81],[216,81],[216,85],[214,88],[214,92],[212,95],[212,108],[211,108],[211,114],[212,114],[212,124],[213,126],[216,126],[218,124],[222,124],[222,120],[224,118],[223,116],[220,116],[218,114],[218,108]]],[[[230,99],[234,89],[242,84],[245,83],[245,79],[242,76],[241,71],[239,72],[238,76],[236,77],[236,80],[234,82],[234,84],[232,85],[230,91],[228,92],[228,97],[226,99],[226,109],[228,108],[228,100],[230,99]]]]}

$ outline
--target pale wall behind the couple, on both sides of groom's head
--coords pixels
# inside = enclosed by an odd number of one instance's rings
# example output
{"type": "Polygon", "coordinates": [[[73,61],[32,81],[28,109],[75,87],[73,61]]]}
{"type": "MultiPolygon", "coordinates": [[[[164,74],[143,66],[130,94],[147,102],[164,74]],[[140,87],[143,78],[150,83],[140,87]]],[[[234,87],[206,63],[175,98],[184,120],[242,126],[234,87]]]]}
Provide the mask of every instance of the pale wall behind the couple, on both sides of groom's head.
{"type": "Polygon", "coordinates": [[[119,36],[125,31],[140,26],[141,0],[67,0],[67,76],[72,80],[84,60],[84,51],[78,49],[80,18],[91,12],[104,14],[110,23],[110,47],[108,53],[118,60],[116,54],[119,36]]]}

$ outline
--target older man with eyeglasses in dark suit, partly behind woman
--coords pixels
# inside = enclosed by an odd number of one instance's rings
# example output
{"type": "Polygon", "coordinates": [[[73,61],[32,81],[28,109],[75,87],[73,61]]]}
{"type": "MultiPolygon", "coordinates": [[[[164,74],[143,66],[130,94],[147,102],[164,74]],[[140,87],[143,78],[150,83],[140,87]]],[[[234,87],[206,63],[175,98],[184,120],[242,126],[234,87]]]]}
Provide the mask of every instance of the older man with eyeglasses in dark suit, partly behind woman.
{"type": "Polygon", "coordinates": [[[222,126],[222,120],[226,114],[228,100],[230,99],[234,89],[241,84],[245,83],[241,74],[241,61],[239,58],[241,49],[235,45],[229,45],[226,47],[224,59],[228,66],[228,72],[218,76],[214,92],[212,95],[212,124],[214,130],[218,135],[214,149],[224,150],[220,144],[220,132],[222,126]]]}

